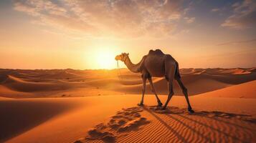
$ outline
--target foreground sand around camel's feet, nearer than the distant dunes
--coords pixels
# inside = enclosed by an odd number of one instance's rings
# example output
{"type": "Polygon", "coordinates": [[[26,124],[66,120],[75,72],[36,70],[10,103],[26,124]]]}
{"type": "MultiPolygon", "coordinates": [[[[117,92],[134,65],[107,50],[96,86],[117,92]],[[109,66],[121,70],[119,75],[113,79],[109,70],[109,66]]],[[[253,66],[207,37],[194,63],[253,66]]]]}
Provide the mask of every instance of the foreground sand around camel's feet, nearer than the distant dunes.
{"type": "MultiPolygon", "coordinates": [[[[14,134],[10,133],[15,132],[17,136],[8,139],[7,142],[74,142],[81,137],[90,137],[87,132],[92,129],[91,127],[97,130],[96,124],[107,124],[110,119],[121,123],[120,120],[127,119],[126,117],[113,117],[120,111],[122,116],[130,117],[131,115],[131,121],[125,121],[122,133],[115,131],[111,133],[117,141],[130,142],[141,139],[141,141],[144,139],[179,141],[179,137],[183,137],[186,141],[193,141],[193,139],[237,141],[235,138],[231,139],[237,135],[242,141],[255,141],[255,120],[252,119],[256,117],[255,99],[221,98],[222,100],[219,100],[218,97],[191,97],[191,103],[197,113],[190,115],[184,109],[186,108],[184,97],[173,97],[170,103],[171,108],[164,113],[154,107],[149,107],[156,104],[156,99],[152,95],[146,96],[145,103],[148,107],[138,109],[135,105],[140,98],[140,95],[116,95],[11,99],[11,101],[1,99],[0,112],[5,113],[5,120],[1,119],[1,125],[16,124],[11,128],[8,126],[1,128],[1,133],[9,134],[7,138],[4,136],[1,140],[13,137],[14,134]],[[17,104],[19,102],[20,104],[17,104]],[[15,108],[14,104],[16,104],[15,108]],[[135,108],[129,109],[131,107],[135,108]],[[137,110],[142,111],[137,112],[137,110]],[[6,111],[13,112],[6,114],[6,111]],[[136,112],[140,115],[133,117],[136,112]],[[29,122],[24,124],[23,121],[28,119],[29,122]],[[238,130],[239,132],[235,132],[238,130]],[[229,137],[226,137],[228,132],[229,137]]],[[[165,99],[166,96],[161,96],[162,101],[165,99]]],[[[111,124],[107,124],[105,129],[110,129],[110,126],[111,124]]],[[[100,130],[102,131],[105,130],[100,130]]]]}

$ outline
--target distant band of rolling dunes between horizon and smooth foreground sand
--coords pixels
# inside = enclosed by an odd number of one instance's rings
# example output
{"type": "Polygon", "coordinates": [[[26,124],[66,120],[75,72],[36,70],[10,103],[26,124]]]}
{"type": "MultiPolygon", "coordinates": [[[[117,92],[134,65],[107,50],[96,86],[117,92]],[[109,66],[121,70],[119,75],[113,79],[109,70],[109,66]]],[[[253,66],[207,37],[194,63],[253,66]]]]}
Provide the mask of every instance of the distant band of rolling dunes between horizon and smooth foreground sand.
{"type": "MultiPolygon", "coordinates": [[[[119,94],[141,94],[141,75],[131,73],[128,69],[113,70],[22,70],[0,69],[0,84],[5,90],[0,91],[1,96],[15,97],[62,97],[67,90],[80,92],[91,88],[98,89],[97,94],[70,94],[70,96],[95,96],[118,92],[119,94]],[[9,89],[6,94],[6,88],[9,89]],[[11,93],[13,91],[14,93],[11,93]]],[[[212,92],[235,84],[242,84],[256,80],[255,68],[250,69],[181,69],[182,81],[189,95],[212,92]]],[[[158,94],[168,94],[167,82],[163,78],[154,78],[154,85],[158,94]]],[[[147,84],[147,94],[152,94],[151,87],[147,84]]],[[[178,84],[174,82],[174,93],[182,95],[178,84]]]]}

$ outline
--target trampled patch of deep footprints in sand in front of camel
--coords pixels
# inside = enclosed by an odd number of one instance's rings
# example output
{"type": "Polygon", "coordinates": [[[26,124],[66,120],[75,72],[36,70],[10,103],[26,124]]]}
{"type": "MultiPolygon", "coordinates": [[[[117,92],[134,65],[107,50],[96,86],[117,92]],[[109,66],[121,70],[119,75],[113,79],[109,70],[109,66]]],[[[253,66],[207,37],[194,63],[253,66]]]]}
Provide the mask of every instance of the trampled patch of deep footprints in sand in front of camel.
{"type": "Polygon", "coordinates": [[[87,137],[77,140],[79,142],[103,141],[115,142],[120,135],[136,131],[143,125],[150,123],[145,117],[141,117],[140,107],[131,107],[117,112],[107,124],[98,124],[87,132],[87,137]]]}

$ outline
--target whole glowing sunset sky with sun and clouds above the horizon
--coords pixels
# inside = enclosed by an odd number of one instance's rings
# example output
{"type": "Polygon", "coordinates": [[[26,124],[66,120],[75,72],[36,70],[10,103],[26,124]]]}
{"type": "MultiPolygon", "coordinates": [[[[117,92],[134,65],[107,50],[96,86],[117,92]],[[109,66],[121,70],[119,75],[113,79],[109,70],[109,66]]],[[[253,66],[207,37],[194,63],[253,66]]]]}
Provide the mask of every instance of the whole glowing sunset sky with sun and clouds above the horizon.
{"type": "Polygon", "coordinates": [[[181,68],[256,66],[255,0],[1,0],[0,19],[2,69],[115,69],[150,49],[181,68]]]}

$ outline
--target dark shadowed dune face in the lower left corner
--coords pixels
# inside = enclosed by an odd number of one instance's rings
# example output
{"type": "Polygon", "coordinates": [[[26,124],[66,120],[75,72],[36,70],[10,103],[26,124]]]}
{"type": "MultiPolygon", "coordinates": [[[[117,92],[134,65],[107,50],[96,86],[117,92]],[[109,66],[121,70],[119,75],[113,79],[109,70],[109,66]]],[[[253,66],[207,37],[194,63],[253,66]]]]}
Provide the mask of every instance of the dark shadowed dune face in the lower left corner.
{"type": "Polygon", "coordinates": [[[0,98],[0,142],[47,122],[79,105],[59,99],[0,98]]]}

